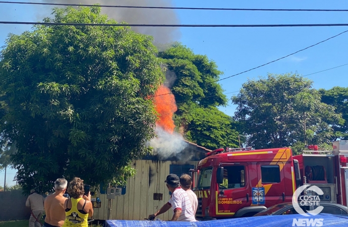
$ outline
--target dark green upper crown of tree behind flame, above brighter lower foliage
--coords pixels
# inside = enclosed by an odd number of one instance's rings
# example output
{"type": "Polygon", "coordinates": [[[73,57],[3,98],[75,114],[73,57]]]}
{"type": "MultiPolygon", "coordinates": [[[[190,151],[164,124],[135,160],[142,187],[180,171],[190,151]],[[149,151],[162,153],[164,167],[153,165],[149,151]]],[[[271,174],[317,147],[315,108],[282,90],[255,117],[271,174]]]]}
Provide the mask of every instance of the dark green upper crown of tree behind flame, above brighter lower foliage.
{"type": "Polygon", "coordinates": [[[160,52],[159,57],[177,76],[171,92],[178,102],[179,113],[184,112],[185,106],[192,103],[204,107],[227,103],[221,86],[213,82],[219,79],[222,72],[217,70],[215,62],[209,61],[206,55],[194,54],[191,49],[176,43],[160,52]]]}

